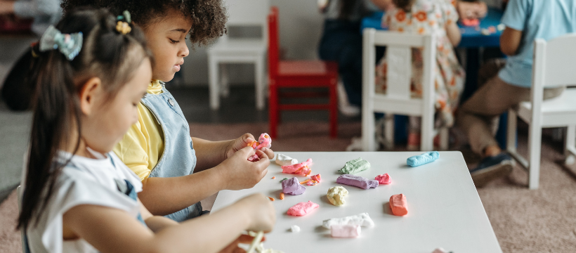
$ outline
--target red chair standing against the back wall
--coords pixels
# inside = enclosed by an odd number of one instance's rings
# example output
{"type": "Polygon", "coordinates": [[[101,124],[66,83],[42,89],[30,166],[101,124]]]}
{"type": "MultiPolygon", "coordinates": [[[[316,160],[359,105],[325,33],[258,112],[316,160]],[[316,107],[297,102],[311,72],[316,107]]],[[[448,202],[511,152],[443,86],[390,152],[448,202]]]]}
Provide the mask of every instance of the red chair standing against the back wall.
{"type": "Polygon", "coordinates": [[[269,74],[269,120],[272,138],[277,136],[280,110],[329,110],[330,137],[338,134],[338,100],[336,82],[338,64],[322,60],[279,60],[278,57],[278,8],[273,6],[268,15],[268,74],[269,74]],[[327,93],[310,91],[282,92],[284,88],[325,87],[327,93]],[[303,98],[325,96],[327,104],[280,104],[280,98],[303,98]]]}

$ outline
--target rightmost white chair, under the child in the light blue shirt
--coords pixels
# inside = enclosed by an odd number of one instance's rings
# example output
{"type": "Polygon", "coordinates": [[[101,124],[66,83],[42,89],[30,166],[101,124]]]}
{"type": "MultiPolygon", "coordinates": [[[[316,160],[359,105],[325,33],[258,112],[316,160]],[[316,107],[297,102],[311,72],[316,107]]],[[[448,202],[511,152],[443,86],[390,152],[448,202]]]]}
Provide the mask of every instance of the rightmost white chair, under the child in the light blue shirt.
{"type": "Polygon", "coordinates": [[[528,187],[537,189],[540,177],[542,128],[568,126],[565,152],[568,164],[576,155],[576,89],[566,89],[561,96],[543,100],[544,88],[576,84],[576,34],[567,34],[549,41],[536,39],[532,65],[530,102],[523,102],[508,112],[507,150],[525,169],[528,187]],[[517,116],[527,122],[528,158],[516,153],[517,116]]]}

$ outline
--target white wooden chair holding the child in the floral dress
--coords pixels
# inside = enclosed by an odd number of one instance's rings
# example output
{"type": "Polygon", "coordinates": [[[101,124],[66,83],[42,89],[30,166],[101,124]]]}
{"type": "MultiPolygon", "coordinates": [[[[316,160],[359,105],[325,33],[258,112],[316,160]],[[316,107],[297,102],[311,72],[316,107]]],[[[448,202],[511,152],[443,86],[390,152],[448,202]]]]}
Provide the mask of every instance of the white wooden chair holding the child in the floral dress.
{"type": "MultiPolygon", "coordinates": [[[[362,146],[365,151],[374,151],[374,112],[386,114],[385,139],[387,148],[393,148],[393,115],[420,116],[421,150],[433,150],[434,129],[434,72],[436,60],[436,38],[433,35],[405,34],[400,32],[364,30],[362,40],[362,146]],[[388,63],[386,94],[374,92],[376,46],[386,46],[388,63]],[[412,77],[412,49],[424,48],[424,80],[422,98],[410,97],[412,77]]],[[[448,148],[448,131],[440,129],[440,149],[448,148]]]]}

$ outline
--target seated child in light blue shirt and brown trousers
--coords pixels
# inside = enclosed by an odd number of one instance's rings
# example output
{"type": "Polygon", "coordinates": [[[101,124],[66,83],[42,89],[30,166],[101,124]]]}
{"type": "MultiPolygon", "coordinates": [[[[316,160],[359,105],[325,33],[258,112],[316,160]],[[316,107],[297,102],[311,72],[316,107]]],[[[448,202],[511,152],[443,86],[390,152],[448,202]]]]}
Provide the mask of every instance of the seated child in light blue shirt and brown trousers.
{"type": "MultiPolygon", "coordinates": [[[[506,29],[500,49],[509,56],[480,68],[485,80],[458,113],[458,124],[474,153],[483,160],[470,171],[476,187],[507,176],[513,167],[494,138],[497,118],[509,108],[530,100],[535,39],[554,39],[576,32],[576,1],[510,0],[502,16],[506,29]]],[[[560,96],[564,87],[544,89],[544,99],[560,96]]]]}

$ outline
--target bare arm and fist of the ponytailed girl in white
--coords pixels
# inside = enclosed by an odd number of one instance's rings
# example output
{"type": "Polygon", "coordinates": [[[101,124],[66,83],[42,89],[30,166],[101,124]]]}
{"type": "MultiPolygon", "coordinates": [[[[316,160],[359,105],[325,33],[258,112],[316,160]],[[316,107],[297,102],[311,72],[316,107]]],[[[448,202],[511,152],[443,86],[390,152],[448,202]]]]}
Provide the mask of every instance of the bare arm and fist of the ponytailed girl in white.
{"type": "MultiPolygon", "coordinates": [[[[146,223],[150,224],[149,217],[146,223]]],[[[274,207],[261,195],[251,195],[207,216],[173,224],[153,233],[126,212],[96,205],[72,207],[63,226],[100,252],[218,252],[245,230],[271,231],[274,207]]],[[[150,225],[148,225],[150,226],[150,225]]]]}

